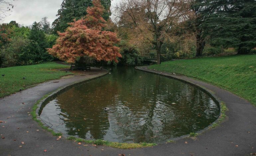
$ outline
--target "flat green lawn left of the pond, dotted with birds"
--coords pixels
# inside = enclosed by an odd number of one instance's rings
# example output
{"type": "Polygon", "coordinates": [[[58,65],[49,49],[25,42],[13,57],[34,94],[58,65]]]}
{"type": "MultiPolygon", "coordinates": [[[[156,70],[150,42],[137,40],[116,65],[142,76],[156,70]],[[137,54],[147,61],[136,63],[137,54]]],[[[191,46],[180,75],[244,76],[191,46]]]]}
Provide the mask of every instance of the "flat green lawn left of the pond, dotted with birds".
{"type": "Polygon", "coordinates": [[[69,68],[67,65],[48,62],[37,65],[0,68],[0,97],[32,87],[45,81],[72,74],[54,69],[69,68]],[[5,76],[2,76],[2,75],[5,76]],[[25,77],[25,79],[23,79],[25,77]]]}

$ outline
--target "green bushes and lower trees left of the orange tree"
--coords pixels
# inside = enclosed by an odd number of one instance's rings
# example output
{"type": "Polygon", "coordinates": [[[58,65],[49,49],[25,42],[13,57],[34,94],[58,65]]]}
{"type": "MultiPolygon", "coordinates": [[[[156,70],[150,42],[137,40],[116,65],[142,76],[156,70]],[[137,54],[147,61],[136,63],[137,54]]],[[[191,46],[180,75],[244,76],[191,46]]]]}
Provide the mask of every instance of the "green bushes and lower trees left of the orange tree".
{"type": "Polygon", "coordinates": [[[15,21],[0,25],[0,67],[29,65],[52,61],[46,48],[55,44],[57,35],[51,34],[47,18],[31,27],[15,21]],[[46,24],[46,25],[45,25],[46,24]]]}

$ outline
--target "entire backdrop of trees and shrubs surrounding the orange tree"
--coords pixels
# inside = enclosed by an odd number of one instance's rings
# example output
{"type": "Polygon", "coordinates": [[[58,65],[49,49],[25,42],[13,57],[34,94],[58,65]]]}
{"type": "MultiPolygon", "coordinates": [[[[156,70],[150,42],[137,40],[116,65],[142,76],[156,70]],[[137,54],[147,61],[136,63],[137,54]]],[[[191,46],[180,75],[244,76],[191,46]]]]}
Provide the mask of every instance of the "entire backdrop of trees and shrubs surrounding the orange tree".
{"type": "MultiPolygon", "coordinates": [[[[111,0],[100,2],[107,21],[102,30],[118,34],[121,42],[116,46],[123,55],[118,59],[124,65],[143,62],[141,53],[157,54],[160,64],[161,54],[192,58],[256,51],[255,0],[123,0],[114,6],[115,19],[110,19],[111,0]]],[[[5,14],[13,8],[7,1],[1,3],[7,5],[5,14]]],[[[52,24],[47,17],[30,27],[15,21],[1,24],[0,66],[56,59],[46,49],[56,43],[58,32],[64,33],[69,23],[83,19],[91,6],[91,0],[63,0],[52,24]]]]}

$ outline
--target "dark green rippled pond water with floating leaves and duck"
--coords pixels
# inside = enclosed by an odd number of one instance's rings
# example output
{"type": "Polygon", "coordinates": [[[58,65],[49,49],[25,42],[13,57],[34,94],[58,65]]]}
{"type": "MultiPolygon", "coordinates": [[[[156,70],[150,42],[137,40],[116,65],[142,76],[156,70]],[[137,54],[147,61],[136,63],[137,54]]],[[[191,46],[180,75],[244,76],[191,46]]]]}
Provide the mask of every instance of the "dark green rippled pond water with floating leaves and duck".
{"type": "Polygon", "coordinates": [[[40,117],[69,135],[139,143],[196,132],[218,115],[217,104],[198,88],[118,67],[107,76],[59,95],[46,105],[40,117]]]}

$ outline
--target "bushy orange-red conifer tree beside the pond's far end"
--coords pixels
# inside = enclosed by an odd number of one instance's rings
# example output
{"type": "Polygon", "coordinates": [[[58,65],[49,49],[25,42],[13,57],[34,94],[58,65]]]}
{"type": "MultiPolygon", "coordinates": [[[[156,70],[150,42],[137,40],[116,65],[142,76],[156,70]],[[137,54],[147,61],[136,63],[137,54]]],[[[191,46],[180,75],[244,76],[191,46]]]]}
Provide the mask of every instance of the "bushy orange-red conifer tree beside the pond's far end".
{"type": "Polygon", "coordinates": [[[100,0],[93,0],[93,7],[87,8],[87,15],[73,23],[64,33],[59,32],[59,38],[53,48],[48,52],[69,63],[74,63],[78,58],[89,56],[97,61],[115,61],[122,57],[116,33],[102,31],[106,21],[102,18],[104,7],[100,0]]]}

